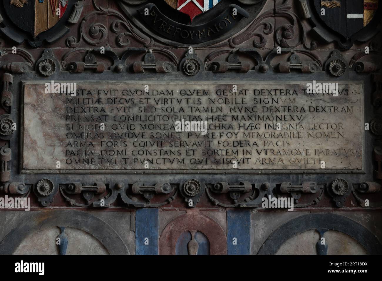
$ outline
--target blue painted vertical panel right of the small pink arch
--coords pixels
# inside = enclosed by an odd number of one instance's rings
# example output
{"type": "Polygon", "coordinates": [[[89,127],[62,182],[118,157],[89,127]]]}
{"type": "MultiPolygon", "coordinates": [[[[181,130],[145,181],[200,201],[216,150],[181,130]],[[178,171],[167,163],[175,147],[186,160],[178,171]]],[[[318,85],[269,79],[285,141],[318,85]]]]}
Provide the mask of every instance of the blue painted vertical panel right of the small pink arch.
{"type": "Polygon", "coordinates": [[[228,210],[227,231],[228,255],[249,255],[251,253],[251,210],[228,210]],[[234,238],[236,238],[236,245],[233,244],[234,238]]]}

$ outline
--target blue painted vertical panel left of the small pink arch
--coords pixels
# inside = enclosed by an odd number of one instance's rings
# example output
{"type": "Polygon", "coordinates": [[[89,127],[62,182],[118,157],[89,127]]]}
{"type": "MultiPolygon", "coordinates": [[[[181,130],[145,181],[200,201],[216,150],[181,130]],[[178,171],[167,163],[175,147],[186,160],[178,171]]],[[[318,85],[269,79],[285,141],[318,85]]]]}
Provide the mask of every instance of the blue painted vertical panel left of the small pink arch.
{"type": "Polygon", "coordinates": [[[159,210],[138,209],[135,214],[135,254],[158,255],[159,210]],[[145,241],[148,238],[148,245],[145,241]]]}

